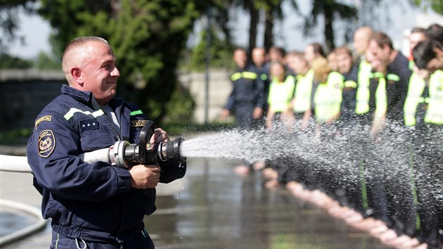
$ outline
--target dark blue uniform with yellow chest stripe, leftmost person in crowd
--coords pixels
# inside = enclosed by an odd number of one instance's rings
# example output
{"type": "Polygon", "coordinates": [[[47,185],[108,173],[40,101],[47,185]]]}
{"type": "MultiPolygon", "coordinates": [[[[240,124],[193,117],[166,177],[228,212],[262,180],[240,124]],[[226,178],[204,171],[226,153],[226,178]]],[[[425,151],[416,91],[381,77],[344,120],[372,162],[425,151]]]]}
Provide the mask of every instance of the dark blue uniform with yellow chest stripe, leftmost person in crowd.
{"type": "Polygon", "coordinates": [[[238,129],[250,129],[254,108],[264,106],[264,83],[251,65],[231,75],[233,89],[225,108],[235,112],[238,129]]]}

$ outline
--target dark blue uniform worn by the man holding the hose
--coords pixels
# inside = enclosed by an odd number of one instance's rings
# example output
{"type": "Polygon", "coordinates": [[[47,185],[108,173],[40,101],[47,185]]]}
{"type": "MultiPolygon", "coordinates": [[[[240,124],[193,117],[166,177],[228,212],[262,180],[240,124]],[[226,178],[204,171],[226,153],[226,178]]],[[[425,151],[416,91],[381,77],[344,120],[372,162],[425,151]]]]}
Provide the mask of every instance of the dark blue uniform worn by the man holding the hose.
{"type": "MultiPolygon", "coordinates": [[[[153,248],[143,217],[155,211],[155,189],[133,189],[126,168],[90,164],[78,156],[119,140],[138,143],[146,115],[133,104],[109,101],[119,129],[90,92],[68,86],[61,91],[37,117],[27,146],[34,186],[43,196],[43,217],[52,219],[56,233],[53,239],[81,241],[80,248],[83,243],[88,248],[153,248]]],[[[186,172],[186,164],[160,167],[162,183],[186,172]]]]}

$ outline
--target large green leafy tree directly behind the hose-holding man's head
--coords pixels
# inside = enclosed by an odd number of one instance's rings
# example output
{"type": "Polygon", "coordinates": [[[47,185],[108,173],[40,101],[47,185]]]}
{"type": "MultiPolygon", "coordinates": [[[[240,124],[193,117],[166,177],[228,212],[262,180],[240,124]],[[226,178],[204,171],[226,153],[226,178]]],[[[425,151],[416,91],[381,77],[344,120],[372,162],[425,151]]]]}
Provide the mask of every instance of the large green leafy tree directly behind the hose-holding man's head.
{"type": "Polygon", "coordinates": [[[122,75],[119,96],[160,121],[176,89],[179,56],[206,4],[198,0],[41,0],[39,13],[56,29],[54,39],[60,48],[78,36],[107,39],[122,75]]]}

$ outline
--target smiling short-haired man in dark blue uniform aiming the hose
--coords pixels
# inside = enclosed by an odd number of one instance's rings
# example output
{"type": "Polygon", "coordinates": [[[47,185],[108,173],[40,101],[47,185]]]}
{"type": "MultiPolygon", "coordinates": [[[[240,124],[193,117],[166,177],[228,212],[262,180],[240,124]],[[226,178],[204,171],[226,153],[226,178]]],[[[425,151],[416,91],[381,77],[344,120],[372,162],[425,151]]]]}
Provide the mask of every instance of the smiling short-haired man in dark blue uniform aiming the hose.
{"type": "MultiPolygon", "coordinates": [[[[51,218],[51,248],[154,248],[143,217],[155,211],[155,186],[184,177],[186,163],[84,162],[80,154],[138,143],[146,115],[114,98],[116,58],[100,37],[73,39],[63,54],[69,86],[38,115],[27,144],[34,186],[43,196],[41,212],[51,218]]],[[[167,141],[155,129],[150,143],[167,141]]]]}

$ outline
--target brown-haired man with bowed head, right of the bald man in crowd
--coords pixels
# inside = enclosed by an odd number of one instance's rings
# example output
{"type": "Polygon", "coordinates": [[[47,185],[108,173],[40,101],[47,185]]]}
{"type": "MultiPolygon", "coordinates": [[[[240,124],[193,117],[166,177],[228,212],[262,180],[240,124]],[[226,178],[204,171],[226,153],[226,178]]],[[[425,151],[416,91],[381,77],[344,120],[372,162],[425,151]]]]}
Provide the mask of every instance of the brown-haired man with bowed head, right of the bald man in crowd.
{"type": "MultiPolygon", "coordinates": [[[[403,108],[406,99],[409,79],[412,71],[409,69],[409,60],[392,46],[390,37],[382,32],[372,34],[368,46],[371,53],[373,77],[370,83],[369,106],[373,113],[371,135],[376,141],[374,151],[383,151],[383,143],[392,143],[389,134],[393,133],[394,125],[403,125],[403,108]],[[387,125],[389,124],[389,125],[387,125]]],[[[407,146],[399,146],[398,153],[406,153],[407,146]]],[[[368,189],[371,192],[371,203],[376,218],[387,224],[389,231],[381,235],[385,243],[395,243],[398,236],[413,237],[416,231],[416,208],[409,181],[389,181],[389,175],[384,174],[387,167],[398,164],[397,170],[407,165],[402,162],[386,162],[380,154],[371,157],[373,181],[368,189]],[[379,177],[381,177],[379,179],[379,177]],[[398,196],[404,201],[399,203],[398,196]]],[[[409,179],[407,168],[402,170],[406,174],[402,179],[409,179]]]]}

